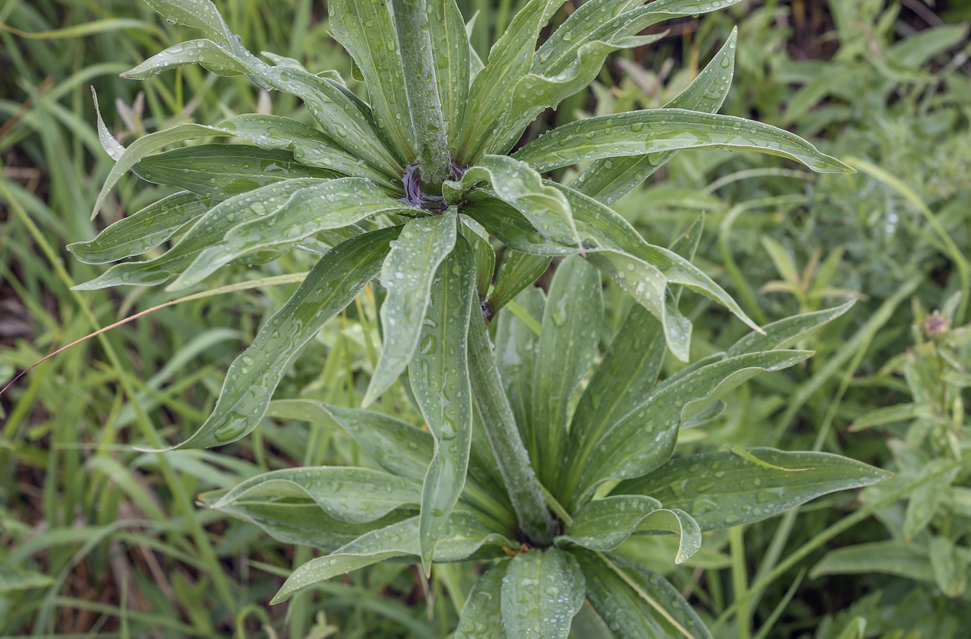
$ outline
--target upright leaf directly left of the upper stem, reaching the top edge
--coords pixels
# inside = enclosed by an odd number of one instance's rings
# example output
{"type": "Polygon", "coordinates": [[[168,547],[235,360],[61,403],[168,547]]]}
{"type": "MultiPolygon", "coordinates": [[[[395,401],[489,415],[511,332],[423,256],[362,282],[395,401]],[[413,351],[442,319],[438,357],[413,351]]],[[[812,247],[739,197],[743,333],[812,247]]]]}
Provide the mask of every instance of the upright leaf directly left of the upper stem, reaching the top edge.
{"type": "Polygon", "coordinates": [[[389,4],[331,0],[327,10],[334,38],[351,53],[364,77],[378,127],[398,159],[411,161],[415,158],[415,138],[389,4]]]}

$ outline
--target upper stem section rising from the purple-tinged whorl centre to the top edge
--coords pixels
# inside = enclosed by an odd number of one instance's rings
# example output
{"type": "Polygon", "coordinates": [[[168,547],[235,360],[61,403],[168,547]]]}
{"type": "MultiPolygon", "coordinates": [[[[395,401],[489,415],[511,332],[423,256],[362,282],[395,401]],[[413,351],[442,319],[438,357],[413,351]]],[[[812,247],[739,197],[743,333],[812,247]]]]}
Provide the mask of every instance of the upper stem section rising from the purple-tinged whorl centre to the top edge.
{"type": "Polygon", "coordinates": [[[442,194],[442,183],[452,177],[452,157],[442,116],[442,98],[435,79],[431,31],[425,0],[391,0],[394,27],[405,72],[405,93],[412,115],[412,130],[419,153],[421,189],[442,194]]]}

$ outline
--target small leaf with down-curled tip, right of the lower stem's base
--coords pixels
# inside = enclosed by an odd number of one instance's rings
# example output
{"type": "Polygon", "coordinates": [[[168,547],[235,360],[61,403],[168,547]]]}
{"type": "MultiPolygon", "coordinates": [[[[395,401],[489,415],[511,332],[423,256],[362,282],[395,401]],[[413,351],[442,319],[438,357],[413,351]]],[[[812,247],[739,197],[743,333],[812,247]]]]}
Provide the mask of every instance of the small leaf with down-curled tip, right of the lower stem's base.
{"type": "Polygon", "coordinates": [[[685,511],[661,508],[661,502],[653,497],[628,494],[587,502],[556,541],[591,551],[612,551],[638,530],[665,530],[678,535],[675,563],[684,563],[701,548],[698,523],[685,511]]]}

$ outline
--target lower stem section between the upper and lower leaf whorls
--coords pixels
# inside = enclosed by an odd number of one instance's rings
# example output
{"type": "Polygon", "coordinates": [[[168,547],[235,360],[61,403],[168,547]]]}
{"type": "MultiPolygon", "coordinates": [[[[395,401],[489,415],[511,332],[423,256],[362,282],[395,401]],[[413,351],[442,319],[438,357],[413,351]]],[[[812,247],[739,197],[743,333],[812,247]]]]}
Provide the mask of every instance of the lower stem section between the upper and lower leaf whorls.
{"type": "Polygon", "coordinates": [[[492,344],[481,313],[469,321],[469,379],[485,425],[492,453],[506,484],[519,525],[537,546],[549,546],[555,525],[543,498],[543,489],[522,445],[513,409],[499,380],[492,344]]]}

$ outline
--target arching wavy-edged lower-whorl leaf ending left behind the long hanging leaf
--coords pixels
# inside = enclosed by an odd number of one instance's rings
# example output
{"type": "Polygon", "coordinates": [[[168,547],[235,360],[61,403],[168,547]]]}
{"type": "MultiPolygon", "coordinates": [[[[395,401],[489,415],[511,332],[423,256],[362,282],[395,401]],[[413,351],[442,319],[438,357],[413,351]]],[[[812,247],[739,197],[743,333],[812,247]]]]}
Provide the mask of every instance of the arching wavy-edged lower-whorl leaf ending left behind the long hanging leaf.
{"type": "Polygon", "coordinates": [[[252,498],[287,499],[303,495],[340,521],[367,523],[402,506],[419,505],[421,485],[369,468],[284,468],[252,477],[224,494],[214,508],[252,498]]]}

